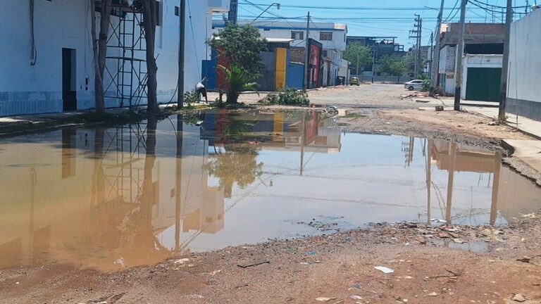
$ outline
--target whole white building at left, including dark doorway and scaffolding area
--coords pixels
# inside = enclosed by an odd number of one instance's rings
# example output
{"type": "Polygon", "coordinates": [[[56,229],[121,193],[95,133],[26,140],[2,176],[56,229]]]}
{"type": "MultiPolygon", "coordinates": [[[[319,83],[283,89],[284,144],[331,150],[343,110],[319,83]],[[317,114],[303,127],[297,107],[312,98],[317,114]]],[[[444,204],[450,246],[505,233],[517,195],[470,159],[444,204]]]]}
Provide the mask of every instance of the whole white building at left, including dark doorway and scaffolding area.
{"type": "MultiPolygon", "coordinates": [[[[90,1],[35,0],[33,8],[30,7],[32,1],[3,2],[0,10],[0,20],[5,25],[0,27],[0,116],[93,108],[94,56],[90,1]]],[[[96,3],[100,6],[99,1],[96,3]]],[[[115,3],[119,1],[113,0],[115,3]]],[[[229,3],[230,0],[187,0],[186,90],[192,90],[201,79],[201,62],[210,57],[205,40],[211,35],[212,13],[228,11],[229,3]]],[[[155,56],[158,64],[158,101],[165,103],[176,99],[180,0],[158,0],[157,4],[155,56]]],[[[118,7],[116,10],[120,11],[118,7]]],[[[99,19],[99,13],[97,15],[99,19]]],[[[113,38],[108,43],[111,45],[118,44],[114,29],[121,18],[116,15],[111,16],[109,35],[113,38]]],[[[125,14],[124,20],[129,28],[132,14],[125,14]]],[[[135,21],[134,37],[140,32],[139,21],[135,21]]],[[[129,33],[127,36],[130,36],[129,33]]],[[[128,41],[128,44],[132,43],[130,39],[128,41]]],[[[145,49],[144,39],[141,39],[139,46],[145,49]]],[[[131,57],[130,51],[108,48],[107,56],[114,58],[109,58],[106,63],[106,106],[120,106],[121,100],[116,98],[119,95],[144,96],[144,93],[137,93],[139,81],[136,80],[137,75],[144,78],[146,71],[146,64],[140,61],[144,59],[144,51],[135,51],[133,58],[120,60],[118,58],[131,57]],[[132,70],[132,63],[137,72],[139,63],[142,63],[141,73],[135,76],[125,73],[125,86],[119,88],[119,65],[124,66],[126,72],[132,70]],[[135,80],[131,80],[132,76],[135,80]]],[[[144,98],[128,99],[137,99],[131,100],[132,104],[146,103],[144,98]]],[[[130,100],[123,100],[123,106],[129,103],[130,100]]]]}

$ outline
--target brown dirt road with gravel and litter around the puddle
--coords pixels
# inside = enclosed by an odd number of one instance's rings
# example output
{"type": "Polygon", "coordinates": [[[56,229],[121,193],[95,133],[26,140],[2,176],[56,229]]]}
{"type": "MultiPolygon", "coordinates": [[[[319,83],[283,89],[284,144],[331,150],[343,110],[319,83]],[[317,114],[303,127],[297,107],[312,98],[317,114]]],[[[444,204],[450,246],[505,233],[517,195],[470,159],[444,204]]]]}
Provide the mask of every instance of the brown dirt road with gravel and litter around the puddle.
{"type": "MultiPolygon", "coordinates": [[[[418,110],[415,101],[399,99],[402,92],[373,84],[310,97],[346,108],[350,115],[340,126],[357,132],[492,149],[501,148],[501,138],[526,138],[478,115],[418,110]]],[[[541,220],[535,214],[518,220],[498,228],[383,224],[114,273],[61,264],[0,270],[0,303],[541,303],[541,220]]]]}

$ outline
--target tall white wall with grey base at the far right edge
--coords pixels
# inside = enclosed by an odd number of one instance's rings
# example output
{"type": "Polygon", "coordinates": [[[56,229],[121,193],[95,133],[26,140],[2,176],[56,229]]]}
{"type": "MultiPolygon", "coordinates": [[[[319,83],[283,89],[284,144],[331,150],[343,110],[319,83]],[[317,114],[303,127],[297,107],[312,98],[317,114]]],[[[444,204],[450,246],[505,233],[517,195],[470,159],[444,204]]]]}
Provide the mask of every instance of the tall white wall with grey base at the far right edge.
{"type": "Polygon", "coordinates": [[[507,110],[541,120],[541,10],[511,26],[507,110]]]}

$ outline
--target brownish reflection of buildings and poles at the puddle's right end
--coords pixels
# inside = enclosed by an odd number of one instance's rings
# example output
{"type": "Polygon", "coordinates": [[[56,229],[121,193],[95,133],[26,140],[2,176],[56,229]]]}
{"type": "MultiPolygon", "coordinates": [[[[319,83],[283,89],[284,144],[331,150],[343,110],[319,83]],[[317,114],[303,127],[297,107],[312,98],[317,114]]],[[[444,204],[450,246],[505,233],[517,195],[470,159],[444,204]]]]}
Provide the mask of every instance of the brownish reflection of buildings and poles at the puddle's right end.
{"type": "MultiPolygon", "coordinates": [[[[521,214],[541,208],[537,185],[512,172],[510,167],[502,166],[502,155],[499,151],[490,152],[475,146],[428,140],[427,157],[429,164],[435,163],[440,170],[449,172],[445,213],[449,222],[452,222],[453,192],[457,191],[454,187],[455,172],[488,174],[488,182],[492,188],[490,224],[495,224],[498,213],[507,222],[514,222],[521,214]]],[[[429,205],[430,188],[430,170],[427,170],[429,205]]],[[[430,210],[430,207],[428,209],[430,210]]]]}

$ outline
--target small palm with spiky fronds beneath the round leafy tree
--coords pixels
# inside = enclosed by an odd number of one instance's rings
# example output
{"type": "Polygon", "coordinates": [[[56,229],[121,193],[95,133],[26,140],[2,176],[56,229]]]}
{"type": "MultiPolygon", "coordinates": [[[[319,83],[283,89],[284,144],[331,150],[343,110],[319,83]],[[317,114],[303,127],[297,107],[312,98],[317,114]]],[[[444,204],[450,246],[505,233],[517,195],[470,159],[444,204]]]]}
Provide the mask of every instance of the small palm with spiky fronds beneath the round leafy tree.
{"type": "Polygon", "coordinates": [[[226,94],[228,95],[228,103],[237,103],[240,92],[256,91],[257,83],[254,82],[256,75],[252,75],[240,65],[231,65],[231,68],[225,68],[223,65],[218,65],[217,68],[225,74],[226,94]]]}

